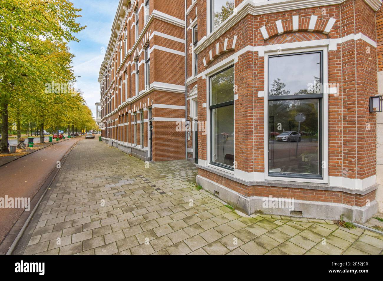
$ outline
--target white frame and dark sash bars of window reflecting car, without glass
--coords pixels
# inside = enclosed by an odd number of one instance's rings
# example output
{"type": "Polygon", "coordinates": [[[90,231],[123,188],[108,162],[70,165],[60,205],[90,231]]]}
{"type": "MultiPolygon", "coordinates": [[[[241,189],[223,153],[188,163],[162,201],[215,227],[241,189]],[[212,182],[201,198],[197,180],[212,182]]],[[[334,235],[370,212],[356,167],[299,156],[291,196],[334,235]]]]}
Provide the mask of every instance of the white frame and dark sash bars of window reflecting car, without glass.
{"type": "Polygon", "coordinates": [[[299,100],[299,99],[318,99],[318,127],[319,127],[319,137],[318,137],[318,164],[319,164],[319,174],[298,174],[298,173],[270,173],[268,171],[268,141],[265,141],[265,179],[266,180],[285,180],[285,181],[294,181],[294,182],[314,182],[314,183],[328,183],[328,140],[325,136],[328,135],[328,106],[327,106],[327,80],[328,80],[328,49],[326,47],[312,47],[312,48],[301,48],[301,49],[291,49],[285,50],[283,54],[278,54],[277,50],[272,50],[265,53],[265,94],[264,94],[264,138],[268,140],[268,130],[269,130],[269,121],[268,121],[268,101],[273,100],[299,100]],[[320,53],[321,54],[321,83],[322,89],[321,94],[300,94],[300,95],[288,95],[288,96],[268,96],[269,94],[269,80],[270,80],[270,67],[269,59],[270,57],[282,57],[288,55],[300,55],[300,54],[310,54],[310,53],[320,53]],[[293,98],[292,98],[293,97],[293,98]],[[326,166],[322,167],[322,163],[325,162],[326,166]]]}

